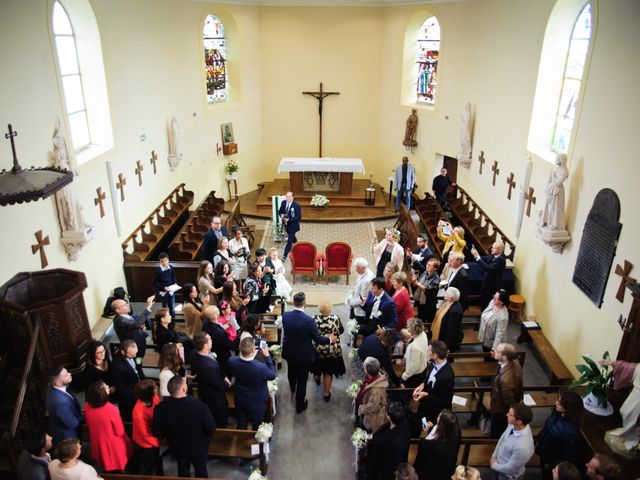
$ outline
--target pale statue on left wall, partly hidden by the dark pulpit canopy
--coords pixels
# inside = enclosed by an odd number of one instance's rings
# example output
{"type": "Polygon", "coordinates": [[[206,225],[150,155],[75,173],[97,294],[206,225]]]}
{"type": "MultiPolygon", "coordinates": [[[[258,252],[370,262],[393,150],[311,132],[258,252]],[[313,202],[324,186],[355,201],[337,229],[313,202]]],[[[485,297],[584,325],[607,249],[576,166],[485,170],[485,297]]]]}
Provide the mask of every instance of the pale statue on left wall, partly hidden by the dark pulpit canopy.
{"type": "MultiPolygon", "coordinates": [[[[74,177],[77,176],[71,166],[67,142],[62,133],[59,118],[56,119],[56,127],[53,132],[53,152],[50,155],[50,162],[54,167],[73,171],[74,177]]],[[[58,190],[54,194],[54,198],[58,211],[58,223],[60,224],[60,241],[64,245],[69,260],[76,261],[82,247],[93,238],[93,227],[84,221],[82,206],[76,198],[73,182],[58,190]]]]}

